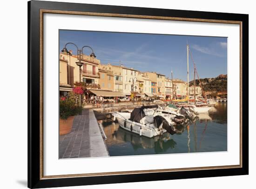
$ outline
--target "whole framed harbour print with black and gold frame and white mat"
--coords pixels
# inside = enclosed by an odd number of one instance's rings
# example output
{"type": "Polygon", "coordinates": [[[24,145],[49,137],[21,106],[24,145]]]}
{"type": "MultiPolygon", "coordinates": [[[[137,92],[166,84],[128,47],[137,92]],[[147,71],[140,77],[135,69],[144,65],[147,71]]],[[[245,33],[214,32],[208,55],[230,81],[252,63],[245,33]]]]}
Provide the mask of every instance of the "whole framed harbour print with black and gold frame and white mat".
{"type": "Polygon", "coordinates": [[[249,16],[28,2],[28,187],[249,174],[249,16]]]}

